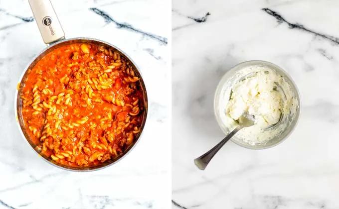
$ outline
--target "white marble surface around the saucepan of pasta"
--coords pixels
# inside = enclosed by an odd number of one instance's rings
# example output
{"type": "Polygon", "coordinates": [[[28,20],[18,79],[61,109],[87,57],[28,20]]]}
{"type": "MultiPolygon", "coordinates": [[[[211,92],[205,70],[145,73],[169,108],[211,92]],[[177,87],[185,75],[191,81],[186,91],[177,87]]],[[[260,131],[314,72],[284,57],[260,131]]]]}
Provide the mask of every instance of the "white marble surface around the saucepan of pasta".
{"type": "Polygon", "coordinates": [[[1,0],[0,209],[169,208],[170,71],[169,47],[164,43],[170,35],[168,6],[159,0],[52,3],[67,38],[92,37],[113,43],[139,65],[149,94],[148,121],[135,149],[104,170],[68,172],[39,159],[19,134],[13,100],[21,72],[46,45],[30,18],[28,1],[1,0]],[[118,27],[89,9],[92,7],[118,23],[157,36],[118,27]]]}

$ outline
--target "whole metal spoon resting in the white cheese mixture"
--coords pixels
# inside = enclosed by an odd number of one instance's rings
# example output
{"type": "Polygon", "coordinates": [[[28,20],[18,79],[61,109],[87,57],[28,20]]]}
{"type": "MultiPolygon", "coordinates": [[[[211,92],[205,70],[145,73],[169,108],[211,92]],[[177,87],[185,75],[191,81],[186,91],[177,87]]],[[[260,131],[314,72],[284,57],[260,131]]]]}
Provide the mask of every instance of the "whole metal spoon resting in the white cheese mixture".
{"type": "Polygon", "coordinates": [[[215,145],[212,149],[210,149],[205,154],[194,160],[196,167],[200,170],[205,170],[209,161],[213,158],[213,156],[219,151],[219,149],[226,144],[226,142],[234,136],[239,130],[245,127],[250,127],[255,124],[256,120],[253,115],[248,114],[248,112],[244,112],[238,119],[239,126],[236,127],[232,132],[230,132],[222,141],[220,141],[217,145],[215,145]]]}

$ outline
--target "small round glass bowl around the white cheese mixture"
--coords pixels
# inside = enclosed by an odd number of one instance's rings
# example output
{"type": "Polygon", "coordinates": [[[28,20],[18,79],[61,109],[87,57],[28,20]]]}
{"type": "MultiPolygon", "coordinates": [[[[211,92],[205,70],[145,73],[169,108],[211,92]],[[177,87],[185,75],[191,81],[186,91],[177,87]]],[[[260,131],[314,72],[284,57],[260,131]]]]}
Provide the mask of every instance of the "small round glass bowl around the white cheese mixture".
{"type": "Polygon", "coordinates": [[[300,116],[300,109],[301,109],[301,101],[300,101],[300,94],[299,91],[297,89],[296,84],[293,82],[292,78],[279,66],[270,63],[270,62],[266,62],[266,61],[260,61],[260,60],[254,60],[254,61],[246,61],[243,63],[240,63],[236,66],[234,66],[233,68],[231,68],[220,80],[215,95],[214,95],[214,114],[215,114],[215,118],[220,126],[220,128],[222,129],[222,131],[225,134],[228,134],[229,132],[231,132],[232,130],[229,130],[229,128],[224,124],[223,120],[222,120],[222,116],[224,116],[225,114],[225,106],[223,105],[224,102],[223,100],[225,100],[225,98],[229,98],[229,94],[226,94],[226,89],[227,89],[227,83],[231,82],[232,84],[235,83],[237,80],[234,79],[234,76],[236,75],[236,73],[239,70],[242,70],[244,68],[247,67],[257,67],[257,66],[263,66],[263,67],[267,67],[270,68],[274,71],[276,71],[279,75],[283,76],[286,80],[286,82],[291,86],[292,91],[293,91],[293,95],[295,97],[297,97],[297,108],[296,108],[296,114],[292,117],[291,115],[291,119],[290,122],[288,124],[288,126],[284,129],[283,132],[281,132],[281,134],[277,135],[276,137],[274,137],[273,139],[269,140],[268,142],[264,143],[264,144],[249,144],[246,143],[245,141],[237,138],[236,136],[233,136],[231,138],[231,140],[242,146],[245,148],[249,148],[249,149],[266,149],[266,148],[270,148],[273,146],[276,146],[278,144],[280,144],[282,141],[284,141],[295,129],[299,116],[300,116]],[[233,78],[233,80],[232,80],[233,78]]]}

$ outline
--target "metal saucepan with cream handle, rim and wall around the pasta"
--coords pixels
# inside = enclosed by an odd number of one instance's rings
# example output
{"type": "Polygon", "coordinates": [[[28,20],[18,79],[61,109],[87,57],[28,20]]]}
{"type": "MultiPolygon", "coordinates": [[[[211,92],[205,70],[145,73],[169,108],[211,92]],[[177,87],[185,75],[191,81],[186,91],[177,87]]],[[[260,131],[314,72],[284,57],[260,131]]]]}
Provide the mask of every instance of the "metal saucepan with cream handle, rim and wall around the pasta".
{"type": "Polygon", "coordinates": [[[45,48],[41,53],[37,54],[30,64],[24,69],[22,72],[22,75],[19,79],[16,92],[15,92],[15,100],[14,100],[14,109],[15,109],[15,116],[16,116],[16,121],[20,130],[21,135],[25,139],[26,142],[30,145],[30,147],[33,148],[33,150],[38,154],[38,156],[41,156],[42,159],[45,161],[49,162],[50,164],[62,168],[65,170],[70,170],[70,171],[94,171],[98,169],[102,169],[105,167],[108,167],[119,160],[121,160],[124,156],[126,156],[127,153],[129,153],[132,148],[135,147],[137,142],[140,139],[140,136],[143,132],[145,123],[146,123],[146,118],[147,118],[147,112],[148,112],[148,100],[147,100],[147,92],[146,92],[146,87],[144,80],[142,78],[142,75],[137,67],[137,65],[133,62],[133,60],[126,54],[124,53],[121,49],[118,47],[114,46],[111,43],[102,41],[102,40],[97,40],[93,38],[71,38],[71,39],[65,39],[65,33],[61,27],[61,24],[57,18],[57,15],[54,11],[54,8],[49,0],[28,0],[31,10],[34,14],[34,18],[36,20],[36,23],[38,25],[38,28],[40,30],[42,39],[45,44],[47,44],[47,48],[45,48]],[[64,165],[61,163],[58,163],[52,159],[50,159],[48,156],[44,155],[40,149],[38,149],[38,146],[36,143],[33,143],[33,141],[30,139],[29,134],[25,128],[23,116],[22,116],[22,99],[21,96],[23,94],[22,90],[24,87],[24,83],[27,79],[27,76],[30,72],[30,70],[35,66],[35,64],[41,60],[46,54],[49,52],[52,52],[53,50],[58,49],[59,47],[72,44],[72,43],[85,43],[85,44],[95,44],[101,47],[105,47],[106,49],[110,49],[114,52],[118,52],[122,58],[125,58],[131,65],[132,69],[134,70],[136,76],[139,77],[140,86],[142,89],[142,94],[144,98],[144,111],[143,111],[143,121],[141,123],[140,127],[140,132],[138,135],[135,137],[134,141],[123,151],[122,154],[116,156],[115,158],[108,160],[100,165],[97,166],[92,166],[92,167],[77,167],[77,166],[68,166],[64,165]]]}

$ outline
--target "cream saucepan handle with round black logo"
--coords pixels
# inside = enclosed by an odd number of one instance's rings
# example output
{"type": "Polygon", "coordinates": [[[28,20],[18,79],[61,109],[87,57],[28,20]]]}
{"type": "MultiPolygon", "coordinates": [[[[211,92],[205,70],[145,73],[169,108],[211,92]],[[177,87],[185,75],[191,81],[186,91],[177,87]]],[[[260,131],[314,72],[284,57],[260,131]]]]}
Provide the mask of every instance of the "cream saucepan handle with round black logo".
{"type": "Polygon", "coordinates": [[[28,0],[43,42],[49,45],[65,38],[50,0],[28,0]]]}

